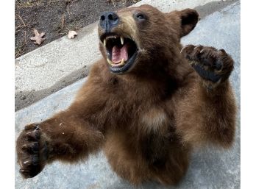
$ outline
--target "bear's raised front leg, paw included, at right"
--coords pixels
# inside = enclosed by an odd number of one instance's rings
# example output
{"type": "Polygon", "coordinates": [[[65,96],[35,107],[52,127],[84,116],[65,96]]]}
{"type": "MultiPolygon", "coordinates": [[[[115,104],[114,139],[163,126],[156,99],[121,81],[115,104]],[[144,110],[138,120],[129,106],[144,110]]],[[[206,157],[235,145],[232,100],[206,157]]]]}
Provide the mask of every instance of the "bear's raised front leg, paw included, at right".
{"type": "Polygon", "coordinates": [[[234,68],[223,49],[188,45],[182,48],[196,71],[186,99],[177,104],[177,129],[188,143],[210,141],[231,146],[235,136],[236,105],[229,76],[234,68]],[[186,118],[186,119],[182,119],[186,118]]]}

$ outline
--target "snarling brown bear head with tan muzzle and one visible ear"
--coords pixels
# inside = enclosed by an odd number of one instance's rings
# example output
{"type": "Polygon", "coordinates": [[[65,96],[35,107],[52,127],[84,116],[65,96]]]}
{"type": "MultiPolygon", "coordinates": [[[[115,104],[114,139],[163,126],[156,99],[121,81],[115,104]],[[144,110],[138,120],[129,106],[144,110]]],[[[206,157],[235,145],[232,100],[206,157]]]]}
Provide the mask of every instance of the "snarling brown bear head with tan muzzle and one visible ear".
{"type": "Polygon", "coordinates": [[[179,57],[180,38],[199,21],[196,10],[162,13],[150,5],[105,12],[99,21],[99,46],[110,71],[155,71],[179,57]]]}

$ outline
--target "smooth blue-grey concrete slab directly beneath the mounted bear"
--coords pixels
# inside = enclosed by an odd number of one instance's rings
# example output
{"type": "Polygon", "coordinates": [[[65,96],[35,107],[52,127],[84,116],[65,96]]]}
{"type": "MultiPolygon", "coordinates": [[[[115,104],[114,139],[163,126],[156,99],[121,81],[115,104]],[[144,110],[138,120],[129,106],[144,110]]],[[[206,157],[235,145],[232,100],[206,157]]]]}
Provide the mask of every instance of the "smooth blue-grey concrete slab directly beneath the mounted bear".
{"type": "MultiPolygon", "coordinates": [[[[226,49],[235,60],[235,71],[231,82],[240,110],[240,2],[206,16],[190,35],[182,39],[183,44],[193,43],[226,49]]],[[[68,107],[85,79],[74,83],[15,113],[15,138],[24,125],[42,121],[53,113],[68,107]]],[[[135,188],[111,171],[100,152],[85,163],[63,165],[53,163],[32,179],[22,179],[15,163],[15,188],[135,188]]],[[[235,144],[230,150],[213,146],[195,151],[188,173],[176,187],[163,187],[146,182],[138,188],[240,188],[240,111],[237,119],[235,144]]]]}

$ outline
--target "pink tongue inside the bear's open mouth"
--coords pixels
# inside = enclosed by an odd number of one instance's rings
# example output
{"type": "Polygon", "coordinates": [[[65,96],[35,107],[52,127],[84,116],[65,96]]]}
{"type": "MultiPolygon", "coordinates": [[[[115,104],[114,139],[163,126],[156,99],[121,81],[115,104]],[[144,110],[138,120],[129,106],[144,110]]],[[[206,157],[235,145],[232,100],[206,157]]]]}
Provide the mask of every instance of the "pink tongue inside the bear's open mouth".
{"type": "Polygon", "coordinates": [[[114,46],[112,49],[112,62],[118,64],[124,58],[124,61],[128,60],[127,44],[124,44],[121,48],[114,46]]]}

